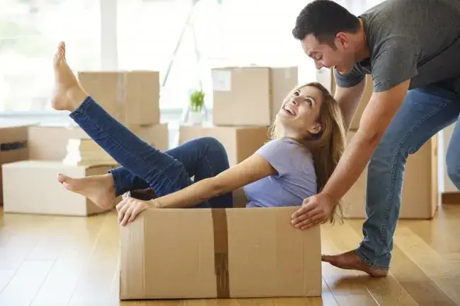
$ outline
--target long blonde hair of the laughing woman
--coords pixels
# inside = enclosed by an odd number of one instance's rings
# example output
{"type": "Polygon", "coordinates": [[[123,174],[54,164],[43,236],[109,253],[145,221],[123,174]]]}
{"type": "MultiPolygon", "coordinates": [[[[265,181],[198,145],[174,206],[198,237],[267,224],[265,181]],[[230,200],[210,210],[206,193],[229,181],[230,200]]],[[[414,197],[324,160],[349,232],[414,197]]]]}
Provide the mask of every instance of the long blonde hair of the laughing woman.
{"type": "MultiPolygon", "coordinates": [[[[321,83],[306,83],[294,88],[294,90],[306,86],[317,88],[323,94],[323,102],[318,115],[318,123],[321,124],[322,128],[318,135],[309,134],[305,139],[296,140],[309,149],[313,155],[316,184],[318,185],[318,192],[321,192],[345,150],[345,124],[338,102],[321,83]]],[[[289,97],[290,95],[285,98],[282,105],[289,97]]],[[[270,126],[270,139],[279,139],[281,136],[278,119],[275,119],[275,122],[270,126]]],[[[340,200],[330,215],[330,223],[334,223],[337,216],[342,220],[343,207],[340,200]]]]}

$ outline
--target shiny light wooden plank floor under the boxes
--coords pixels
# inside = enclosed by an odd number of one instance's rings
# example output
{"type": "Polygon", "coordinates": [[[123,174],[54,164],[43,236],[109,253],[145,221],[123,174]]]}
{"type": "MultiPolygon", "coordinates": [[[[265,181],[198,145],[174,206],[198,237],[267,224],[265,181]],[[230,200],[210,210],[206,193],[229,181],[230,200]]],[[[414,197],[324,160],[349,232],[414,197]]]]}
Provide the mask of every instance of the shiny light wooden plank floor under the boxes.
{"type": "MultiPolygon", "coordinates": [[[[323,253],[357,247],[362,220],[323,226],[323,253]]],[[[3,214],[0,305],[460,305],[460,206],[434,220],[401,220],[391,275],[370,278],[323,263],[321,298],[118,300],[115,213],[91,218],[3,214]]]]}

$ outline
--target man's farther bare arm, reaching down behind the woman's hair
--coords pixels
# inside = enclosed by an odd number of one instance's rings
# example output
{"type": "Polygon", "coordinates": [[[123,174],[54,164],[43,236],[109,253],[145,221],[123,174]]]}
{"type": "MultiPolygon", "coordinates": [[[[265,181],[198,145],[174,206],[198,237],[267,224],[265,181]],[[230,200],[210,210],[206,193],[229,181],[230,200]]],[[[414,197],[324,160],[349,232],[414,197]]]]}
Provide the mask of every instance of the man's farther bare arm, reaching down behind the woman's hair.
{"type": "Polygon", "coordinates": [[[352,87],[335,86],[334,98],[340,105],[340,110],[342,110],[345,130],[350,129],[350,124],[355,117],[358,106],[360,105],[365,86],[366,78],[352,87]]]}

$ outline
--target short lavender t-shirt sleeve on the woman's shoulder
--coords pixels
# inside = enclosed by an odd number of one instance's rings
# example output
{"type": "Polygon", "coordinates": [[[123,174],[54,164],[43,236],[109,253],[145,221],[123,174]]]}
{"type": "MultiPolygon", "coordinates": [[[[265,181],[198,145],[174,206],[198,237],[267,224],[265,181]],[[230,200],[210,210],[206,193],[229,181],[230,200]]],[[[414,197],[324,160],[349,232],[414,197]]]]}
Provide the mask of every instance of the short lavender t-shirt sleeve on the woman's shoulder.
{"type": "Polygon", "coordinates": [[[289,172],[289,154],[293,153],[296,144],[288,141],[287,139],[275,139],[265,143],[255,154],[265,158],[265,160],[272,165],[278,172],[278,177],[283,176],[289,172]]]}

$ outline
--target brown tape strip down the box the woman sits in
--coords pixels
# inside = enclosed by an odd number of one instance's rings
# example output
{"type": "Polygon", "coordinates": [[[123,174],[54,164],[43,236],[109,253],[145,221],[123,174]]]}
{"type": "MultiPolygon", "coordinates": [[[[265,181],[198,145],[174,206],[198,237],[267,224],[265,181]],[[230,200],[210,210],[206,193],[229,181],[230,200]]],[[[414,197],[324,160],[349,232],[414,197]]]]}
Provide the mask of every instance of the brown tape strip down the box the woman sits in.
{"type": "Polygon", "coordinates": [[[229,288],[229,236],[225,208],[212,208],[214,230],[214,269],[217,298],[230,298],[229,288]]]}

